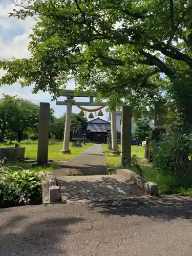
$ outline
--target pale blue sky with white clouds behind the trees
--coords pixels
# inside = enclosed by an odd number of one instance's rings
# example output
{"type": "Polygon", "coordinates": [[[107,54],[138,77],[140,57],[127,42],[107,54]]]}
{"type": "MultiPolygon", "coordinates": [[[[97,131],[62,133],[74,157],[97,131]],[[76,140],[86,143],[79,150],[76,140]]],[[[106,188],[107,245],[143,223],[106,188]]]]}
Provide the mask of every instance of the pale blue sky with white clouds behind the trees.
{"type": "MultiPolygon", "coordinates": [[[[12,56],[16,58],[28,58],[30,52],[28,51],[29,34],[32,32],[31,28],[34,24],[34,20],[30,17],[25,21],[17,18],[9,17],[9,12],[15,8],[11,0],[0,0],[0,59],[11,59],[12,56]]],[[[4,74],[3,70],[0,70],[0,76],[4,74]]],[[[69,81],[67,89],[73,90],[75,88],[74,81],[69,81]]],[[[34,103],[50,102],[51,107],[55,110],[56,116],[61,116],[66,112],[66,106],[57,106],[55,101],[51,101],[51,95],[44,92],[38,92],[32,94],[32,87],[21,88],[18,83],[12,86],[5,85],[0,87],[0,95],[18,95],[25,99],[29,99],[34,103]]],[[[65,97],[61,97],[60,100],[65,100],[65,97]]],[[[76,98],[76,101],[89,101],[89,98],[76,98]]],[[[89,107],[91,109],[91,107],[89,107]]],[[[73,106],[73,113],[79,113],[79,109],[73,106]]],[[[103,111],[103,119],[106,119],[106,112],[103,111]]]]}

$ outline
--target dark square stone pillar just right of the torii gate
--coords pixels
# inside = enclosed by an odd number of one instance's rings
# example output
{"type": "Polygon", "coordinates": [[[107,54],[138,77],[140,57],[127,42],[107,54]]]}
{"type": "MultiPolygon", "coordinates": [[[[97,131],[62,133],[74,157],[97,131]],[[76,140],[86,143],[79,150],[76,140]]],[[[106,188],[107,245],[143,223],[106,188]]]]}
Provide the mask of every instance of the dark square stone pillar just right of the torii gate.
{"type": "Polygon", "coordinates": [[[122,107],[121,117],[121,165],[131,166],[132,109],[122,107]]]}

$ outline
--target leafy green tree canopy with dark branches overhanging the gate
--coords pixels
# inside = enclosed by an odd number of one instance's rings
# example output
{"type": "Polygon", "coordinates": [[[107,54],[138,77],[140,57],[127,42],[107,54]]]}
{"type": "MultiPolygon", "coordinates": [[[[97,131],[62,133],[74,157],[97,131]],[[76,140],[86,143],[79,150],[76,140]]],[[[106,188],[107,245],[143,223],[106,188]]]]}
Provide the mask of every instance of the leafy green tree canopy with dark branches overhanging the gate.
{"type": "Polygon", "coordinates": [[[192,68],[192,3],[187,0],[38,0],[11,13],[37,18],[29,59],[1,61],[1,84],[20,79],[33,92],[58,89],[75,78],[114,103],[150,105],[167,81],[188,79],[192,68]],[[183,72],[183,70],[187,72],[183,72]]]}

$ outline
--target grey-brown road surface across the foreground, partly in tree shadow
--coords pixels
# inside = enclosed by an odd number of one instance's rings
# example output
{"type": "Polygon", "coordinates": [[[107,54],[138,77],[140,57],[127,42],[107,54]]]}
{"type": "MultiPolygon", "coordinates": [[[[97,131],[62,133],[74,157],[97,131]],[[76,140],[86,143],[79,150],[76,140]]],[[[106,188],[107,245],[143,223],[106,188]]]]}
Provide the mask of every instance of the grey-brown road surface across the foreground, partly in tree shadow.
{"type": "Polygon", "coordinates": [[[192,200],[0,209],[4,256],[191,256],[192,200]]]}

